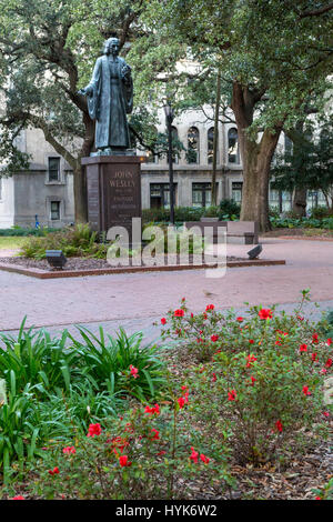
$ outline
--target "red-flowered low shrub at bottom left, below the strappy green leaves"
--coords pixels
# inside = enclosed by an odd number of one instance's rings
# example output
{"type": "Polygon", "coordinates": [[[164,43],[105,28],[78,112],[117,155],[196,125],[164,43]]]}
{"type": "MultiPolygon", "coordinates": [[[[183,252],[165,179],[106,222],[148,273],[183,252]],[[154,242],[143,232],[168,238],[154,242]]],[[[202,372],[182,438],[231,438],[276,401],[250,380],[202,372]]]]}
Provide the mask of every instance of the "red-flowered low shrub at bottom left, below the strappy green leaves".
{"type": "MultiPolygon", "coordinates": [[[[183,408],[183,406],[182,406],[183,408]]],[[[26,479],[26,494],[43,499],[186,499],[193,479],[215,494],[234,481],[226,452],[195,440],[175,396],[171,406],[140,406],[51,443],[26,479]],[[195,445],[195,448],[194,448],[195,445]],[[28,485],[27,485],[28,483],[28,485]]],[[[195,494],[195,493],[194,493],[195,494]]]]}

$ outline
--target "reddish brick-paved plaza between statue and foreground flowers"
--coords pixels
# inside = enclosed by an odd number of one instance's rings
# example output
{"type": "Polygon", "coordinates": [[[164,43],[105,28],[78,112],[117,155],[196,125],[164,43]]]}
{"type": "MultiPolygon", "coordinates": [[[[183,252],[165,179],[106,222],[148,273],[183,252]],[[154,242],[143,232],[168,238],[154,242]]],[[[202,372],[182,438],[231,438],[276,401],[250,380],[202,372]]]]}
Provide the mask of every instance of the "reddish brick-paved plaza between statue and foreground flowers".
{"type": "MultiPolygon", "coordinates": [[[[228,269],[221,279],[208,279],[204,270],[110,274],[38,280],[0,271],[0,330],[16,333],[24,315],[28,327],[52,332],[73,324],[93,331],[99,324],[114,332],[143,330],[147,339],[159,338],[152,325],[185,297],[193,311],[208,303],[218,309],[243,311],[244,302],[269,307],[279,303],[293,310],[300,291],[311,289],[305,313],[333,309],[333,242],[263,239],[261,259],[285,259],[285,265],[228,269]]],[[[228,255],[246,258],[249,245],[228,245],[228,255]]],[[[3,255],[3,253],[1,253],[3,255]]]]}

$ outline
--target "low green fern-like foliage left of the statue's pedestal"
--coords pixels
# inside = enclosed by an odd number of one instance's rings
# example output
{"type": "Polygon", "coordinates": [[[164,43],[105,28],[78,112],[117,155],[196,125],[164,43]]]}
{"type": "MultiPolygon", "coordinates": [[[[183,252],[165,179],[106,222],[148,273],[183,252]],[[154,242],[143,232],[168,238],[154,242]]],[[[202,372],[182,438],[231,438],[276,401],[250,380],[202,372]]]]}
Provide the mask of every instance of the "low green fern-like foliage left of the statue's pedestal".
{"type": "Polygon", "coordinates": [[[44,259],[47,250],[62,250],[67,257],[105,258],[108,245],[97,241],[98,233],[92,232],[88,223],[77,224],[42,238],[29,238],[20,255],[44,259]]]}

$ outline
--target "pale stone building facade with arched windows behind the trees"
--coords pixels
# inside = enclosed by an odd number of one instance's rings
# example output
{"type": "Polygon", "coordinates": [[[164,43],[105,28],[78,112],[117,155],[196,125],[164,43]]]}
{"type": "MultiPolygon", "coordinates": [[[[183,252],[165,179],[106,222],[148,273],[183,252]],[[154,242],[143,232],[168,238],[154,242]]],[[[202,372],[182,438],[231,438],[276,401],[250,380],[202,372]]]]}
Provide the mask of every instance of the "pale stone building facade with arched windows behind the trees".
{"type": "MultiPolygon", "coordinates": [[[[174,188],[178,207],[209,207],[214,129],[208,112],[188,111],[173,121],[173,133],[184,150],[174,154],[174,188]]],[[[232,114],[231,114],[232,117],[232,114]]],[[[165,117],[160,113],[157,131],[165,131],[165,117]]],[[[242,160],[238,129],[231,121],[219,124],[216,194],[222,199],[242,200],[242,160]]],[[[74,222],[73,175],[69,164],[44,140],[37,129],[22,131],[20,150],[30,153],[29,171],[0,178],[0,228],[13,225],[61,228],[74,222]]],[[[279,148],[290,147],[282,134],[279,148]]],[[[142,153],[142,152],[140,152],[142,153]]],[[[145,153],[145,152],[143,152],[145,153]]],[[[170,204],[168,158],[148,154],[141,165],[142,208],[168,208],[170,204]]],[[[292,194],[270,190],[270,205],[280,212],[291,210],[292,194]]],[[[309,207],[324,204],[321,194],[309,194],[309,207]]]]}

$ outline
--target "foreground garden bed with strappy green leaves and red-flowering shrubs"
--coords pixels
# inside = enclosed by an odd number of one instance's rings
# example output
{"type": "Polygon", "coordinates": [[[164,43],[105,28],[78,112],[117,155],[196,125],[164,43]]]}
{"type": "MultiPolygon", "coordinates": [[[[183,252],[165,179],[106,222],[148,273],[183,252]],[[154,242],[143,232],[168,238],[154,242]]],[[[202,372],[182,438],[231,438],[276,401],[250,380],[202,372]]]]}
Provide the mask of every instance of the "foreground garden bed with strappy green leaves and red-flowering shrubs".
{"type": "Polygon", "coordinates": [[[309,299],[236,317],[183,298],[160,348],[1,335],[0,499],[332,499],[333,321],[309,299]]]}

